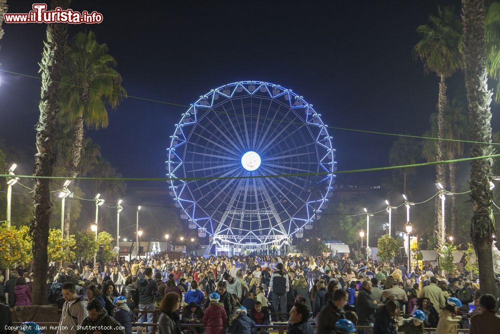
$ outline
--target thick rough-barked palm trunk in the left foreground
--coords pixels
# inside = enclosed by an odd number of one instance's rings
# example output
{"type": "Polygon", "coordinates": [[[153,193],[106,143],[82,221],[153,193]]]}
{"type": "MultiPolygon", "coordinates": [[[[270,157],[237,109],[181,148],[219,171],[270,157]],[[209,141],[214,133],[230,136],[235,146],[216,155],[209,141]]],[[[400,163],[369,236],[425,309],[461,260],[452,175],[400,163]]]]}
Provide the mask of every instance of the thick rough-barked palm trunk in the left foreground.
{"type": "MultiPolygon", "coordinates": [[[[70,0],[52,0],[51,8],[67,9],[70,0]]],[[[59,112],[59,84],[66,51],[67,25],[47,24],[46,41],[40,62],[41,100],[40,116],[36,123],[36,154],[33,176],[52,176],[55,162],[55,127],[59,112]]],[[[31,302],[43,305],[47,296],[48,227],[52,204],[50,179],[35,178],[33,215],[30,232],[33,239],[33,273],[31,302]]]]}

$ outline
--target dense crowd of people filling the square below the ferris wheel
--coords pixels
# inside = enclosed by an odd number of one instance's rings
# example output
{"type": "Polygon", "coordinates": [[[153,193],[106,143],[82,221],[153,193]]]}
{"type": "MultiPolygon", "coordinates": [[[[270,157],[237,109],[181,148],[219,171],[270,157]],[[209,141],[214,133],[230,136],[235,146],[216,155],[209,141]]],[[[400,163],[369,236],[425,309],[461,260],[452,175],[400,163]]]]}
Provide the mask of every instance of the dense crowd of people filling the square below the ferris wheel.
{"type": "MultiPolygon", "coordinates": [[[[19,271],[0,287],[10,307],[31,304],[32,276],[19,271]]],[[[430,265],[406,272],[346,256],[153,256],[81,272],[53,267],[47,284],[48,303],[62,309],[61,328],[83,326],[63,334],[98,325],[130,334],[134,322],[153,323],[155,310],[160,334],[263,334],[269,329],[259,325],[271,323],[288,324],[290,334],[500,333],[500,282],[497,295],[480,295],[473,274],[440,275],[430,265]]]]}

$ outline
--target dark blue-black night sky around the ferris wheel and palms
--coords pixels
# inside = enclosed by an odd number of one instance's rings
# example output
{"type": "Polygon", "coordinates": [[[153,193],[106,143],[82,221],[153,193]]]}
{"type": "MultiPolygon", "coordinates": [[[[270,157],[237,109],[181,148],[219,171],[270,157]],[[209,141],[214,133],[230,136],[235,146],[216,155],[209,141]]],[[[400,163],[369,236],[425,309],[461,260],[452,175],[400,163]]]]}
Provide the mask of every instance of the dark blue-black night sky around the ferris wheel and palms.
{"type": "MultiPolygon", "coordinates": [[[[411,49],[434,1],[357,2],[74,1],[97,11],[93,30],[118,63],[129,95],[187,105],[225,83],[261,80],[292,89],[326,124],[421,135],[435,110],[437,78],[424,76],[411,49]]],[[[440,2],[459,7],[458,1],[440,2]]],[[[26,13],[32,2],[9,2],[26,13]]],[[[84,6],[84,7],[82,7],[84,6]]],[[[4,25],[2,68],[37,75],[45,26],[4,25]]],[[[40,83],[1,74],[0,138],[33,146],[40,83]]],[[[450,79],[449,91],[462,85],[450,79]]],[[[107,129],[90,132],[127,177],[162,177],[165,148],[184,108],[127,99],[107,129]]],[[[493,120],[496,121],[496,117],[493,120]]],[[[331,131],[338,169],[388,164],[395,137],[331,131]]],[[[30,172],[30,169],[26,170],[30,172]]],[[[340,175],[337,183],[378,183],[381,174],[340,175]]]]}

